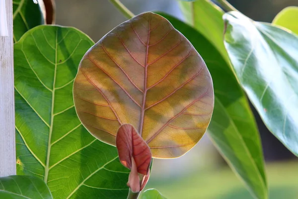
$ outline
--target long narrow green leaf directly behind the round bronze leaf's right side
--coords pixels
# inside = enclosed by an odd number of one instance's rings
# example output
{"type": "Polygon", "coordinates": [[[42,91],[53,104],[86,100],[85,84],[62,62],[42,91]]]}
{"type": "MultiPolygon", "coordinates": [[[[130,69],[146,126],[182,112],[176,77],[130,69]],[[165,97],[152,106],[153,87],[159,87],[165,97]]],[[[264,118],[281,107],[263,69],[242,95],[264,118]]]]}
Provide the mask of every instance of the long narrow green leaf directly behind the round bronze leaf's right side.
{"type": "Polygon", "coordinates": [[[172,16],[161,14],[192,43],[211,73],[215,106],[208,127],[209,135],[253,195],[266,199],[267,185],[259,133],[233,72],[219,51],[201,33],[172,16]]]}

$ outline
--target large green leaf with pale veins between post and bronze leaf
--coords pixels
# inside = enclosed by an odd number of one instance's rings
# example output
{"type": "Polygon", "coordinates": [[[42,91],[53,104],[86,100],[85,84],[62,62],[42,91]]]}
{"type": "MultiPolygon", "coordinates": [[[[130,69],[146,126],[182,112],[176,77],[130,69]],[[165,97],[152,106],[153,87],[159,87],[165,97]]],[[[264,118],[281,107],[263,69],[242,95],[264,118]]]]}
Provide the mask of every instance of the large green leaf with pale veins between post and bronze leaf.
{"type": "Polygon", "coordinates": [[[14,44],[17,174],[43,179],[55,199],[128,194],[117,149],[91,136],[74,109],[77,67],[93,44],[77,29],[46,25],[14,44]]]}

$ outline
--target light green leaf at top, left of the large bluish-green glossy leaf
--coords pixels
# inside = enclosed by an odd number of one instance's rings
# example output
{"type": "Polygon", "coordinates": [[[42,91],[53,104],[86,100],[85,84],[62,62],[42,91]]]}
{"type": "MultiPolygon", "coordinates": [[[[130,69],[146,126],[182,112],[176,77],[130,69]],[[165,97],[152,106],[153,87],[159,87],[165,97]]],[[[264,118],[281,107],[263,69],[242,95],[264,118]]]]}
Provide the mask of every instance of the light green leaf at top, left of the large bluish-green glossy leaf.
{"type": "Polygon", "coordinates": [[[228,62],[223,40],[224,11],[211,0],[181,1],[180,5],[187,23],[203,34],[228,62]]]}

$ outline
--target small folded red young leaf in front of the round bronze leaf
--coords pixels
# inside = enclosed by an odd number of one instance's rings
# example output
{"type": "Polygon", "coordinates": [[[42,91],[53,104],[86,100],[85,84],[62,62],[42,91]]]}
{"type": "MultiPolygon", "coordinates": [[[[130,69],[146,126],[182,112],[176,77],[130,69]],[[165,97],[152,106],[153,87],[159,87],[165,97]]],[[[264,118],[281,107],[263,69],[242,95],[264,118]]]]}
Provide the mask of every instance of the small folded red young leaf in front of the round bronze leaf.
{"type": "Polygon", "coordinates": [[[127,168],[132,169],[134,159],[139,174],[148,175],[151,163],[151,151],[145,140],[139,135],[131,124],[120,126],[116,136],[120,162],[127,168]]]}

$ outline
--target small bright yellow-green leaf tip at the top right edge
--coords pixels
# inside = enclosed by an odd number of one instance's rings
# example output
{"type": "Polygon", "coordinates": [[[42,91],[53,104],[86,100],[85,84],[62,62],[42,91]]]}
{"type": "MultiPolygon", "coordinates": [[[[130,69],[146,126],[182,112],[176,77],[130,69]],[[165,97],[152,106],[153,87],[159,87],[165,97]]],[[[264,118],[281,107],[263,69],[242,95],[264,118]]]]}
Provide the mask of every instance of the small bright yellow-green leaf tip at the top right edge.
{"type": "Polygon", "coordinates": [[[273,24],[283,26],[298,34],[298,7],[290,6],[280,11],[273,19],[273,24]]]}

